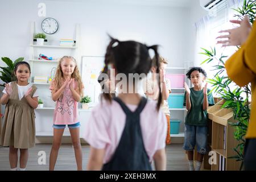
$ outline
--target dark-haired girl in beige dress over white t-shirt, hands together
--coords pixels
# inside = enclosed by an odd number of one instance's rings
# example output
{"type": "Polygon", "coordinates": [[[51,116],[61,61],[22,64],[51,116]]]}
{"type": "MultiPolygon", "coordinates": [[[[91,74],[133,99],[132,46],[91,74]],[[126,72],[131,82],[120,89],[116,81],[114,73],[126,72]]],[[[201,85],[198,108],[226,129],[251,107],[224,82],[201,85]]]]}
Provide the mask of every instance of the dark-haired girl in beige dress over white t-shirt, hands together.
{"type": "Polygon", "coordinates": [[[17,170],[18,150],[19,169],[25,170],[28,148],[35,145],[35,113],[38,107],[36,87],[28,84],[30,65],[21,61],[15,65],[17,81],[5,85],[1,104],[6,105],[0,145],[9,147],[9,161],[12,171],[17,170]]]}

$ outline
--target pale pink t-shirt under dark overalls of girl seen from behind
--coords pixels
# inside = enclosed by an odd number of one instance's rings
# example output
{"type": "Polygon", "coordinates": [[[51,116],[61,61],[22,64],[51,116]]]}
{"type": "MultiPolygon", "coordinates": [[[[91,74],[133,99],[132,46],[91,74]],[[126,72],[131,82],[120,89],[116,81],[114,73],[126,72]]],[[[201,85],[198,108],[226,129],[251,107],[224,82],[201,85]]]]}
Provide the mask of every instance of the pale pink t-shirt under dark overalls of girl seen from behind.
{"type": "MultiPolygon", "coordinates": [[[[127,105],[131,111],[137,105],[127,105]]],[[[121,106],[113,101],[103,101],[93,108],[85,125],[84,139],[90,146],[105,148],[104,164],[109,162],[125,128],[126,115],[121,106]]],[[[155,152],[166,146],[167,123],[162,110],[156,110],[156,101],[147,101],[140,115],[142,138],[147,155],[152,160],[155,152]]]]}

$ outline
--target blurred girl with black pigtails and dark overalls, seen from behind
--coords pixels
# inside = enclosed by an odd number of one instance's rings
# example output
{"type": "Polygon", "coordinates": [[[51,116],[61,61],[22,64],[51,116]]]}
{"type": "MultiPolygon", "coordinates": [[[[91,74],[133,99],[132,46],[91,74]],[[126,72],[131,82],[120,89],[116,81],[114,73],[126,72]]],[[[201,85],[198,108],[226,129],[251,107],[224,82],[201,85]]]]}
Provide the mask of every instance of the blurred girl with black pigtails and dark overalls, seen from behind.
{"type": "MultiPolygon", "coordinates": [[[[158,57],[157,46],[113,38],[109,43],[102,73],[114,69],[116,78],[122,73],[129,93],[119,92],[115,98],[103,93],[102,102],[92,110],[85,127],[85,140],[91,146],[88,170],[152,170],[152,160],[156,170],[166,169],[167,123],[159,110],[162,94],[159,92],[158,101],[147,101],[136,89],[140,81],[129,82],[131,76],[146,77],[150,71],[149,49],[158,57]],[[133,86],[135,89],[130,89],[133,86]]],[[[159,60],[156,64],[159,73],[159,60]]]]}

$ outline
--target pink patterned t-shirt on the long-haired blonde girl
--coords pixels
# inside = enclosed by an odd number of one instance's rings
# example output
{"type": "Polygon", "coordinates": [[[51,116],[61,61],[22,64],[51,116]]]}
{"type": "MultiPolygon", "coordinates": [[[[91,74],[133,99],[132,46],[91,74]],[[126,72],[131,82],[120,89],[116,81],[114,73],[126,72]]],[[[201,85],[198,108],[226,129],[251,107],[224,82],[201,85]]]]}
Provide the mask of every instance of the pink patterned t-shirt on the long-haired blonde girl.
{"type": "MultiPolygon", "coordinates": [[[[77,82],[75,81],[74,88],[76,88],[77,82]]],[[[52,80],[49,87],[50,90],[55,89],[55,81],[52,80]]],[[[59,98],[56,102],[56,106],[53,113],[53,123],[55,125],[72,125],[78,121],[78,104],[73,98],[72,92],[69,86],[66,86],[63,92],[63,98],[59,98]]]]}

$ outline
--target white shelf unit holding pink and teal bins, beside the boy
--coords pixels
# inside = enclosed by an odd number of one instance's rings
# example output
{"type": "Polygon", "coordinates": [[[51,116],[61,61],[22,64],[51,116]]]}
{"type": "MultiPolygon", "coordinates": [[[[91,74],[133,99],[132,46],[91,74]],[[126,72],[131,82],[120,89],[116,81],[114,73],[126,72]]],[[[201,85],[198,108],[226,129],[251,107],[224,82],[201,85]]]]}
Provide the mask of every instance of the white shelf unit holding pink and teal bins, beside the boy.
{"type": "MultiPolygon", "coordinates": [[[[185,62],[184,65],[187,65],[187,62],[185,62]]],[[[172,71],[176,71],[181,74],[185,74],[185,71],[187,70],[187,68],[186,67],[167,67],[166,70],[168,73],[172,73],[172,71]]],[[[171,90],[172,90],[172,93],[183,93],[184,94],[184,92],[185,92],[185,88],[172,88],[171,87],[171,90]]],[[[185,122],[185,116],[187,114],[187,109],[185,109],[185,108],[169,108],[169,110],[171,113],[171,119],[174,118],[173,115],[179,115],[179,117],[177,117],[177,119],[181,120],[179,134],[170,134],[172,143],[183,143],[184,122],[185,122]],[[182,117],[181,117],[180,112],[183,112],[182,117]]]]}

